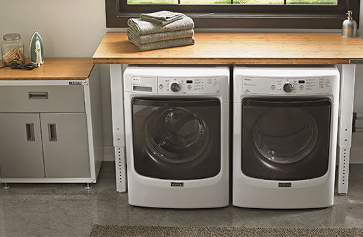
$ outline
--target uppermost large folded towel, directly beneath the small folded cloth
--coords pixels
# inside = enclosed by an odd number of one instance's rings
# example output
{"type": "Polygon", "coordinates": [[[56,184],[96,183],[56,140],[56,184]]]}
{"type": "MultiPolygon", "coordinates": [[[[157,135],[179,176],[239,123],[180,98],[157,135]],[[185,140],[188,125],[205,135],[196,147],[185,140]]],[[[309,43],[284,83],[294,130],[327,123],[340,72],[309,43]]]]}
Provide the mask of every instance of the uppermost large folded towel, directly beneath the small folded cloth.
{"type": "Polygon", "coordinates": [[[179,21],[173,21],[168,25],[158,25],[149,21],[142,21],[140,18],[130,18],[127,21],[130,30],[134,34],[142,36],[145,34],[155,34],[161,32],[174,32],[181,29],[192,29],[194,27],[193,20],[188,16],[183,16],[179,21]]]}

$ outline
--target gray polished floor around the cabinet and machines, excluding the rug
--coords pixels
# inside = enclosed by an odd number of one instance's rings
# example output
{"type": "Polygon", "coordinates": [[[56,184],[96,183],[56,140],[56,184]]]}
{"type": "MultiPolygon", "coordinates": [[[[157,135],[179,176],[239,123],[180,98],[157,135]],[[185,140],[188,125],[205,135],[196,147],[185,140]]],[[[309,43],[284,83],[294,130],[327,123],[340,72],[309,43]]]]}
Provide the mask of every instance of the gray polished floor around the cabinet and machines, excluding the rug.
{"type": "Polygon", "coordinates": [[[351,165],[349,195],[316,210],[162,210],[128,205],[117,193],[114,163],[92,190],[82,184],[11,184],[0,190],[0,236],[88,236],[93,224],[249,227],[363,227],[363,164],[351,165]]]}

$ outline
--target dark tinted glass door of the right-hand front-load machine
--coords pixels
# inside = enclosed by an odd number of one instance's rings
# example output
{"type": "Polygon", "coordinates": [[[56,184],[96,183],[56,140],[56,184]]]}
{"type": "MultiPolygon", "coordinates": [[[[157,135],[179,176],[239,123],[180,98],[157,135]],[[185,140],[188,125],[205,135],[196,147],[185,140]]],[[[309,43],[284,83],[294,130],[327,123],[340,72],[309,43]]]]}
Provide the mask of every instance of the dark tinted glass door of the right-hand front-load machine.
{"type": "Polygon", "coordinates": [[[329,99],[242,101],[242,172],[260,179],[321,177],[329,162],[329,99]]]}

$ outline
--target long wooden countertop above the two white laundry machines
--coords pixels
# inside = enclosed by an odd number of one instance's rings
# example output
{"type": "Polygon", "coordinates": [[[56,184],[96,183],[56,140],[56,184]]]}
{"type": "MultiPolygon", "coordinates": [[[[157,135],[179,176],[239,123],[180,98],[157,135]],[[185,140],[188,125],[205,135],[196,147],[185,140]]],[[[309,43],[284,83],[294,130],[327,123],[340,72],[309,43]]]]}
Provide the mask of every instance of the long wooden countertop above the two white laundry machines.
{"type": "Polygon", "coordinates": [[[339,33],[196,33],[195,45],[138,51],[126,33],[108,32],[95,64],[349,64],[363,40],[339,33]]]}

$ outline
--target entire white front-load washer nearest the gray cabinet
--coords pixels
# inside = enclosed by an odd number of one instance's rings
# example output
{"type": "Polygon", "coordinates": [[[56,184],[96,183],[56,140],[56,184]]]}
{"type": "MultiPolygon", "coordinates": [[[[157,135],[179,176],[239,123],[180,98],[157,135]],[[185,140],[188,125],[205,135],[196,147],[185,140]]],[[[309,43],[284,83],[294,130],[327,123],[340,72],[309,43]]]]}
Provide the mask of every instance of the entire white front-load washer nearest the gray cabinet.
{"type": "Polygon", "coordinates": [[[217,208],[229,203],[229,68],[127,66],[129,204],[217,208]]]}

